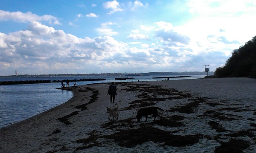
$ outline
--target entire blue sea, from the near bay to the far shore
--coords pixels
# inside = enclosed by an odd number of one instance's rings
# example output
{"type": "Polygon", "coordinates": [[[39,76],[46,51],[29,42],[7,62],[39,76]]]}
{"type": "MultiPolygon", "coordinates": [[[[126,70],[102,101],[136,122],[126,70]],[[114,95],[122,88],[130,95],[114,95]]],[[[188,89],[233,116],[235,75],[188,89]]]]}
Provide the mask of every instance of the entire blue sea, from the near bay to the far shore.
{"type": "MultiPolygon", "coordinates": [[[[64,79],[105,79],[102,81],[83,81],[70,82],[69,86],[87,85],[93,83],[111,83],[111,82],[137,82],[141,81],[160,81],[167,78],[153,79],[153,77],[166,76],[112,76],[112,77],[0,77],[3,81],[27,81],[27,80],[64,80],[64,79]],[[116,80],[115,78],[129,77],[133,79],[116,80]]],[[[176,77],[176,76],[168,76],[176,77]]],[[[170,78],[177,79],[199,79],[205,75],[195,75],[192,77],[170,78]]],[[[72,98],[71,91],[64,91],[61,83],[40,83],[40,84],[22,84],[22,85],[0,85],[0,128],[20,122],[29,117],[47,111],[55,106],[67,102],[72,98]]]]}

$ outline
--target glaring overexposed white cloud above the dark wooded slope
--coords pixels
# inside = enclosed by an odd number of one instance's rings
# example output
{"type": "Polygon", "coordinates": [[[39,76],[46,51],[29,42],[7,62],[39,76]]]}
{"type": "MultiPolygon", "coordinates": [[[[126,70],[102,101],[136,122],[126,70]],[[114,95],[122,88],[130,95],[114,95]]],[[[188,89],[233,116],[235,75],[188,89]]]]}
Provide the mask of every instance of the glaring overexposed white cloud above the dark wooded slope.
{"type": "MultiPolygon", "coordinates": [[[[215,46],[220,46],[225,42],[227,44],[230,44],[229,42],[243,43],[255,36],[256,29],[253,27],[256,26],[256,23],[251,20],[256,14],[256,2],[253,0],[215,0],[210,2],[190,0],[187,6],[189,6],[194,19],[181,26],[179,31],[184,31],[192,40],[197,40],[205,48],[211,46],[206,39],[208,36],[214,35],[217,38],[218,43],[215,42],[215,46]],[[223,37],[226,41],[219,41],[223,37]]],[[[239,45],[228,46],[239,47],[239,45]]]]}

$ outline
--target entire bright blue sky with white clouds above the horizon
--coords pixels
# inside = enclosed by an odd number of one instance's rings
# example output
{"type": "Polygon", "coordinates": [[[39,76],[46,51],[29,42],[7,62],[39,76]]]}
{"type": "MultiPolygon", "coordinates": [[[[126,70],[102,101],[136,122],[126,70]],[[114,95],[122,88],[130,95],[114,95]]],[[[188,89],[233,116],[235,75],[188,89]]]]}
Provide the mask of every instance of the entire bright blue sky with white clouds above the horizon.
{"type": "Polygon", "coordinates": [[[215,71],[255,0],[0,0],[0,76],[215,71]]]}

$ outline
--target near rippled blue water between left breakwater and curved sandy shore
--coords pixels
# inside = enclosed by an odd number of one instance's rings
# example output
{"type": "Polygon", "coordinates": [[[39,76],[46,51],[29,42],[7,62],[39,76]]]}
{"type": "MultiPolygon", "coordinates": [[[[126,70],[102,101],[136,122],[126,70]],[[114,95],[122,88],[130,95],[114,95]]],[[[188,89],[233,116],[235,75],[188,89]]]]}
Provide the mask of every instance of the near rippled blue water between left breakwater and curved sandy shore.
{"type": "Polygon", "coordinates": [[[27,119],[72,98],[72,92],[56,88],[57,83],[0,86],[0,127],[27,119]]]}

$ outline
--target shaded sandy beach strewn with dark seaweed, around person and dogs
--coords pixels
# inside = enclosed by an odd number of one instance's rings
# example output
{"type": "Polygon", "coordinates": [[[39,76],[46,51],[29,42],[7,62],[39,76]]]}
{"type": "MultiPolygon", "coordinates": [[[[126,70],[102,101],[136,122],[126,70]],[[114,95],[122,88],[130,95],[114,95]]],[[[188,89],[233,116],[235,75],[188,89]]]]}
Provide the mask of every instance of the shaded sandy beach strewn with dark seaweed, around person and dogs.
{"type": "Polygon", "coordinates": [[[108,120],[110,83],[65,88],[73,98],[1,128],[1,153],[256,152],[256,79],[116,83],[119,120],[108,120]],[[155,106],[159,117],[136,123],[155,106]]]}

